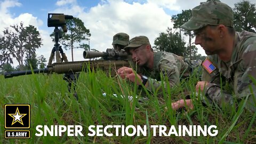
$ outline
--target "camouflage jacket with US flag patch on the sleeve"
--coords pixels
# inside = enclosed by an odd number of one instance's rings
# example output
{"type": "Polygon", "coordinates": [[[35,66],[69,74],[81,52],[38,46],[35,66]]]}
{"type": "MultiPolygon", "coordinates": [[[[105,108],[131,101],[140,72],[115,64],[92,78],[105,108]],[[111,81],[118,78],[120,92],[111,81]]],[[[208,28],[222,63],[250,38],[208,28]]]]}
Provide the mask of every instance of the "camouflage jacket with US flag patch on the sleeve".
{"type": "Polygon", "coordinates": [[[211,74],[206,69],[203,71],[202,81],[210,82],[205,88],[205,96],[210,103],[214,101],[220,107],[232,105],[234,101],[241,101],[248,96],[245,107],[256,111],[256,87],[250,78],[256,79],[256,34],[236,32],[234,41],[229,62],[220,60],[216,54],[207,56],[216,69],[211,74]],[[228,84],[231,92],[221,90],[221,83],[222,86],[228,84]]]}

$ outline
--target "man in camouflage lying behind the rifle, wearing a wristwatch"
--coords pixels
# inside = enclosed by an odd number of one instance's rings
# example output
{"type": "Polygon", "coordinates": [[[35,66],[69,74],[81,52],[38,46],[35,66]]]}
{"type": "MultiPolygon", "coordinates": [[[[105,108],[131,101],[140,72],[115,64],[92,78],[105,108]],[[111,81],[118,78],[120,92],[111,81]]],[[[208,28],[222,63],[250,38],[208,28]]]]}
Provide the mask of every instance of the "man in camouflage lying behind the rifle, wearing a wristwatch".
{"type": "Polygon", "coordinates": [[[168,52],[154,53],[146,36],[132,38],[124,49],[132,54],[141,74],[134,74],[133,69],[127,67],[118,69],[118,74],[132,82],[137,75],[137,85],[143,84],[149,91],[161,89],[161,73],[168,78],[171,87],[180,82],[181,74],[188,74],[188,64],[181,57],[168,52]]]}

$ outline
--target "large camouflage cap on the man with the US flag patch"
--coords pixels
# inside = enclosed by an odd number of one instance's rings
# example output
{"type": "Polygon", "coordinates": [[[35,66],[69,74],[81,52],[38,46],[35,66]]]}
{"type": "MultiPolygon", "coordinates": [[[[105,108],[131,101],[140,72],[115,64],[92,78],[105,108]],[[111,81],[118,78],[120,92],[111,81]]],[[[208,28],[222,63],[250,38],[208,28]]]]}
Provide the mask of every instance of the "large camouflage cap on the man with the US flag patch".
{"type": "Polygon", "coordinates": [[[208,0],[192,9],[192,17],[182,26],[186,30],[196,30],[207,25],[234,27],[234,14],[231,7],[217,0],[208,0]]]}

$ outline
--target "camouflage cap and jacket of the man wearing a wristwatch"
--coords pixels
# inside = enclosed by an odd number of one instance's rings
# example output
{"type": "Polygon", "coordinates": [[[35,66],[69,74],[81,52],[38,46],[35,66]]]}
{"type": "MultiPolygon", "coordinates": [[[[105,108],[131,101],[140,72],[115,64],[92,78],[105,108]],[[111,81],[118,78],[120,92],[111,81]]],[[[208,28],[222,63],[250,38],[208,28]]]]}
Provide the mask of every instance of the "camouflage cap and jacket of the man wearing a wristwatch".
{"type": "MultiPolygon", "coordinates": [[[[146,36],[137,36],[132,38],[128,46],[124,49],[139,47],[141,45],[150,45],[146,36]]],[[[134,67],[133,67],[134,68],[134,67]]],[[[136,69],[136,68],[134,68],[136,69]]],[[[148,77],[145,84],[148,90],[161,89],[161,73],[163,77],[167,77],[170,86],[174,86],[180,82],[180,75],[188,76],[188,63],[182,60],[182,57],[169,52],[155,52],[154,53],[154,67],[149,69],[147,67],[138,67],[137,73],[148,77]]],[[[164,87],[166,84],[164,83],[164,87]]]]}

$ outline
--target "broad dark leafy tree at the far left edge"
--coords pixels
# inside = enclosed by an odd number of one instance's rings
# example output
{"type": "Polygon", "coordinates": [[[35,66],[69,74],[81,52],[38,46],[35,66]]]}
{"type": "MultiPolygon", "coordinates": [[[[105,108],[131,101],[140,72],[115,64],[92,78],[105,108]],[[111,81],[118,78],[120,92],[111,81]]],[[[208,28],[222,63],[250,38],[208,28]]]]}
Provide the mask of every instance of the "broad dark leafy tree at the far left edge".
{"type": "MultiPolygon", "coordinates": [[[[23,58],[27,52],[35,53],[35,49],[42,45],[41,37],[35,27],[23,27],[20,25],[12,25],[11,28],[5,28],[3,36],[0,36],[0,63],[10,62],[15,58],[19,63],[19,69],[23,70],[23,58]],[[34,42],[36,41],[36,42],[34,42]],[[29,44],[31,43],[31,44],[29,44]]],[[[1,67],[1,66],[0,66],[1,67]]]]}

